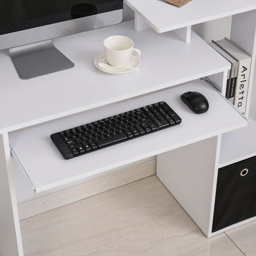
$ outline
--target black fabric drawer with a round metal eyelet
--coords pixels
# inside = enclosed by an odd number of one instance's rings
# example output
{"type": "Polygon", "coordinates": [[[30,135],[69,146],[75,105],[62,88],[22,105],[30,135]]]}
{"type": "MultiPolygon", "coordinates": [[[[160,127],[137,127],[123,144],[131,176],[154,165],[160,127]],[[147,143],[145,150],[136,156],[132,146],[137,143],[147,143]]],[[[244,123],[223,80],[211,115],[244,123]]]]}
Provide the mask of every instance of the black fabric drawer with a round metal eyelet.
{"type": "Polygon", "coordinates": [[[212,232],[254,216],[256,156],[218,170],[212,232]]]}

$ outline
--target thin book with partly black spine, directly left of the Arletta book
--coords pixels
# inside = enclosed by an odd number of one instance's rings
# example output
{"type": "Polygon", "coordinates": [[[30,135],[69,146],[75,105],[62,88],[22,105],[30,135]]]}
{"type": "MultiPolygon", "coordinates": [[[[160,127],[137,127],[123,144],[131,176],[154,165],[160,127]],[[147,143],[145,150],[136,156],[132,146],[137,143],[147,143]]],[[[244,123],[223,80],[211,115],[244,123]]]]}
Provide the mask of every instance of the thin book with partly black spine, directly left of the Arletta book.
{"type": "Polygon", "coordinates": [[[231,103],[234,103],[234,90],[236,86],[236,78],[238,76],[238,61],[231,57],[225,50],[222,50],[214,40],[209,42],[209,45],[212,46],[217,52],[222,55],[226,60],[231,63],[231,69],[228,72],[228,80],[226,82],[226,98],[230,100],[231,103]]]}

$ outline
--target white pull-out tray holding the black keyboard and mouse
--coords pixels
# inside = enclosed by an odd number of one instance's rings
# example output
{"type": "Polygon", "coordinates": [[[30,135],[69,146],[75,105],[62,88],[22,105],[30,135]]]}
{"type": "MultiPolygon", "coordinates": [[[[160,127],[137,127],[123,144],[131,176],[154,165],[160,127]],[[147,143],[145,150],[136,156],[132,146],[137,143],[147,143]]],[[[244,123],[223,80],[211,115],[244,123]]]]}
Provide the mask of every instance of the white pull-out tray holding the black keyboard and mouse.
{"type": "Polygon", "coordinates": [[[217,90],[205,81],[197,80],[14,132],[9,135],[9,140],[35,191],[40,192],[66,184],[72,185],[78,180],[85,182],[116,167],[229,132],[246,124],[246,119],[234,110],[217,90]],[[210,105],[206,113],[194,114],[180,100],[180,95],[189,90],[201,92],[206,96],[210,105]],[[62,158],[50,140],[50,134],[60,130],[162,100],[182,118],[181,124],[69,160],[62,158]]]}

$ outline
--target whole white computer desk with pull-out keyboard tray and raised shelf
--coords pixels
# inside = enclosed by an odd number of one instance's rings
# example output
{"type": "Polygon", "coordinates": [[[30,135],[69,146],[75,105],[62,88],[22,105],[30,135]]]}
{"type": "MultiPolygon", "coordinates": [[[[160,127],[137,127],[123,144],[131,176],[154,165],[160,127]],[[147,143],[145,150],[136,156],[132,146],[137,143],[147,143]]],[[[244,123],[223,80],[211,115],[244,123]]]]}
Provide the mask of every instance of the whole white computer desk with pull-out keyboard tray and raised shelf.
{"type": "MultiPolygon", "coordinates": [[[[138,4],[141,2],[138,1],[138,4]]],[[[163,3],[156,2],[156,7],[162,8],[163,3]]],[[[223,10],[226,4],[223,8],[220,5],[219,9],[212,9],[212,13],[207,16],[209,18],[205,20],[236,14],[233,17],[231,37],[235,42],[239,42],[241,34],[243,38],[249,38],[244,48],[252,55],[254,68],[255,2],[227,2],[233,6],[230,12],[223,10]],[[239,14],[248,10],[250,12],[239,14]],[[239,24],[245,23],[247,30],[241,30],[239,24]]],[[[135,2],[127,0],[127,4],[137,15],[141,15],[135,2]]],[[[153,0],[148,4],[151,6],[153,0]]],[[[184,9],[164,4],[164,9],[170,7],[170,12],[173,12],[175,8],[175,12],[179,13],[189,8],[195,10],[198,4],[201,4],[201,1],[191,1],[184,9]]],[[[180,26],[167,19],[169,25],[165,24],[162,28],[183,28],[184,25],[191,26],[204,21],[198,14],[199,12],[191,12],[186,23],[179,22],[180,26]]],[[[143,16],[148,22],[151,13],[143,14],[141,18],[143,16]]],[[[255,155],[256,152],[256,147],[251,143],[250,152],[239,151],[233,157],[226,155],[226,158],[223,153],[225,148],[229,148],[228,144],[232,140],[230,132],[241,127],[246,129],[247,124],[246,119],[223,97],[230,64],[194,33],[191,33],[191,42],[185,43],[172,31],[158,34],[150,28],[136,32],[133,23],[134,21],[124,22],[54,39],[55,46],[75,63],[75,67],[28,81],[18,78],[6,51],[0,53],[2,256],[23,255],[9,142],[38,193],[63,185],[71,186],[77,180],[86,181],[87,178],[114,167],[158,155],[158,177],[206,236],[215,234],[212,233],[211,226],[218,167],[220,164],[225,166],[238,159],[255,155]],[[112,34],[124,34],[134,39],[135,47],[142,51],[139,72],[113,75],[102,73],[94,66],[95,55],[103,50],[103,39],[112,34]],[[206,82],[198,80],[204,76],[209,76],[212,81],[217,82],[220,92],[206,82]],[[187,90],[198,90],[206,95],[210,103],[207,113],[193,114],[181,102],[180,94],[187,90]],[[182,124],[69,161],[63,160],[50,142],[49,135],[58,130],[159,100],[166,100],[174,108],[181,116],[182,124]],[[231,138],[222,140],[224,133],[231,138]],[[39,152],[31,148],[34,142],[42,146],[39,152]],[[136,150],[132,151],[131,148],[136,150]],[[169,159],[172,159],[172,162],[169,159]]],[[[190,28],[187,31],[190,31],[190,28]]],[[[187,33],[188,36],[190,33],[187,33]]],[[[250,90],[251,87],[252,81],[250,90]]],[[[254,129],[246,129],[247,138],[242,137],[244,131],[241,133],[243,143],[250,143],[248,134],[253,132],[254,129]]]]}

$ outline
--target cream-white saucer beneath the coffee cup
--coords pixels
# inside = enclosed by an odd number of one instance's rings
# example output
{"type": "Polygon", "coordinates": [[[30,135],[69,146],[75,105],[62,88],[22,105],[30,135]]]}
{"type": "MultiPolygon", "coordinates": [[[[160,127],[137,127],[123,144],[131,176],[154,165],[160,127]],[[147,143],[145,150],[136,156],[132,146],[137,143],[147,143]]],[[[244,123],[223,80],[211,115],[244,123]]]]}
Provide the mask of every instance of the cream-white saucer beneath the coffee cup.
{"type": "MultiPolygon", "coordinates": [[[[100,68],[98,66],[98,63],[108,63],[106,61],[106,56],[105,56],[105,52],[100,52],[95,58],[94,58],[94,64],[95,66],[97,66],[97,68],[105,73],[110,73],[110,74],[124,74],[124,73],[129,73],[132,72],[133,70],[130,70],[129,68],[126,68],[126,66],[122,67],[122,68],[111,68],[110,70],[104,69],[104,68],[100,68]]],[[[130,58],[129,63],[127,64],[127,66],[132,66],[133,68],[137,68],[138,66],[140,66],[140,58],[130,58]]]]}

